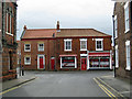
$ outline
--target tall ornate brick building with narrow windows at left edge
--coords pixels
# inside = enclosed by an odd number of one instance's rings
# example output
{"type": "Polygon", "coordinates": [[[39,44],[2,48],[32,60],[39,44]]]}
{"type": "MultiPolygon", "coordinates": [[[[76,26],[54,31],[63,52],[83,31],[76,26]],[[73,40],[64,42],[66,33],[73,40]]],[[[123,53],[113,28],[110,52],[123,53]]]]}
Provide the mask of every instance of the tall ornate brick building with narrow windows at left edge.
{"type": "Polygon", "coordinates": [[[16,78],[16,2],[1,2],[2,80],[16,78]]]}

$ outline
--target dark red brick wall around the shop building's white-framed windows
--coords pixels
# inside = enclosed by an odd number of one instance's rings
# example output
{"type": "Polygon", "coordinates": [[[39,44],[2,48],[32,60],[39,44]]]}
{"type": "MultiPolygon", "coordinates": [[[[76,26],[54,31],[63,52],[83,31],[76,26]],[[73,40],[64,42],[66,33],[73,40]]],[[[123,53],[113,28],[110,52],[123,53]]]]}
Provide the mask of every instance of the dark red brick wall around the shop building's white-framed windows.
{"type": "MultiPolygon", "coordinates": [[[[86,38],[86,37],[84,37],[86,38]]],[[[76,70],[80,70],[80,54],[87,54],[86,51],[80,51],[80,40],[79,38],[72,38],[72,52],[64,51],[64,38],[56,38],[56,69],[61,69],[61,57],[59,55],[77,55],[77,68],[76,70]]],[[[88,51],[96,51],[96,41],[92,37],[87,38],[87,50],[88,51]]],[[[103,51],[110,51],[111,47],[111,37],[103,38],[103,51]]],[[[67,69],[67,68],[66,68],[67,69]]],[[[75,70],[75,69],[73,69],[75,70]]]]}

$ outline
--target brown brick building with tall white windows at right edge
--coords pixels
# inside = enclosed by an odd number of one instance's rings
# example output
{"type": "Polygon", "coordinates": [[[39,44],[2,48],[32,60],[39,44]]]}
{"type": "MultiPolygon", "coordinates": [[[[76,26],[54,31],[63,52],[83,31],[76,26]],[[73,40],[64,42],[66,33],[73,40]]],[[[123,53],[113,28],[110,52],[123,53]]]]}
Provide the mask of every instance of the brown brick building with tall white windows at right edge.
{"type": "Polygon", "coordinates": [[[130,78],[132,72],[132,2],[114,4],[116,75],[130,78]]]}

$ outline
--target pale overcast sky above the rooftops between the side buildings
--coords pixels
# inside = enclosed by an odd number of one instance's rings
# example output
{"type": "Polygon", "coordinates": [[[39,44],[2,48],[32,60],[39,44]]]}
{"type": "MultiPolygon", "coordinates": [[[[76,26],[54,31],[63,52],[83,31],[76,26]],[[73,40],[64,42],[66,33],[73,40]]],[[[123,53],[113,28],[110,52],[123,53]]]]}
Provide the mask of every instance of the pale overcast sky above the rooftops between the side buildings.
{"type": "Polygon", "coordinates": [[[96,29],[112,35],[111,0],[18,0],[18,35],[28,29],[96,29]]]}

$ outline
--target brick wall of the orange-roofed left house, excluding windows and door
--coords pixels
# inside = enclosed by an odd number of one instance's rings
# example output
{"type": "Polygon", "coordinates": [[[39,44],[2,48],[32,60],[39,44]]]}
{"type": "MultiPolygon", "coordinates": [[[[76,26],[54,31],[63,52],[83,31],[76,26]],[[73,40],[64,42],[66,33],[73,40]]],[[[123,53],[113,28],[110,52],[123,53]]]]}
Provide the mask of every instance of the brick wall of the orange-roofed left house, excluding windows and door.
{"type": "Polygon", "coordinates": [[[21,41],[21,65],[24,66],[24,69],[37,69],[37,55],[45,55],[45,70],[51,70],[51,57],[55,57],[55,40],[24,40],[21,41]],[[31,44],[31,52],[24,52],[24,44],[31,44]],[[44,52],[37,51],[38,42],[44,43],[44,52]],[[24,65],[24,56],[31,55],[31,65],[24,65]]]}

